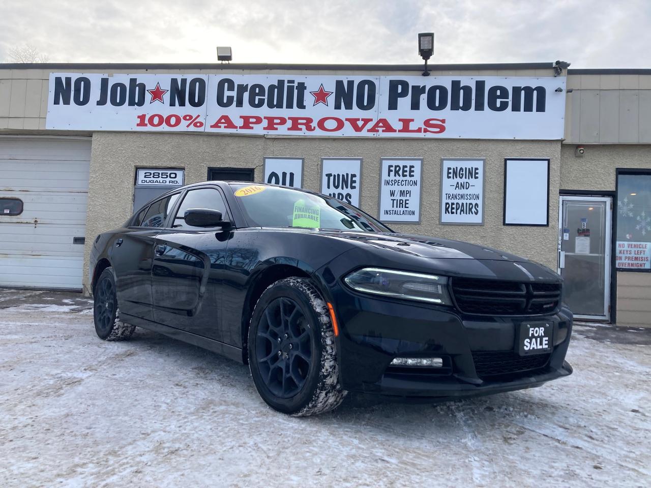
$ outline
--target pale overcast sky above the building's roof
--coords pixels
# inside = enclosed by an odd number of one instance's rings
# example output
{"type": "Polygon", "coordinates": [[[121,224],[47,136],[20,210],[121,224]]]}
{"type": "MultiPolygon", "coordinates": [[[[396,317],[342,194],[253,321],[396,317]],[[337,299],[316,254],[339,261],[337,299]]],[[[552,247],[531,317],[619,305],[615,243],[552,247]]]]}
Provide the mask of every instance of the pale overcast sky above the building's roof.
{"type": "Polygon", "coordinates": [[[0,61],[32,44],[50,62],[572,62],[651,68],[650,0],[1,0],[0,61]]]}

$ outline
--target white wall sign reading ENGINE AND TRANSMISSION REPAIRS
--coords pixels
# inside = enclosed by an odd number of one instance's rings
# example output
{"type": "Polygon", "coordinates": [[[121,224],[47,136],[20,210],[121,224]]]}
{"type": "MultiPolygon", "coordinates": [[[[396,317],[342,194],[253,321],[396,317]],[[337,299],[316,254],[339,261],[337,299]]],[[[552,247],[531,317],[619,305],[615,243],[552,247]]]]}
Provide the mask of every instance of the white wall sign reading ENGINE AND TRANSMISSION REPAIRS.
{"type": "Polygon", "coordinates": [[[484,223],[484,159],[441,161],[441,224],[484,223]]]}

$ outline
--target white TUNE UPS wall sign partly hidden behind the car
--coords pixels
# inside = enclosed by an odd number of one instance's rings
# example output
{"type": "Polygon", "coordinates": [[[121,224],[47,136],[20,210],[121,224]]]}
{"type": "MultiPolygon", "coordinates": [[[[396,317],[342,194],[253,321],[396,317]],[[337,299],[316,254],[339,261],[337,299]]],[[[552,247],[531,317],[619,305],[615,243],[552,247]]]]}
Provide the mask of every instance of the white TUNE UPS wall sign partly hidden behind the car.
{"type": "Polygon", "coordinates": [[[362,160],[353,157],[321,159],[321,193],[359,208],[362,160]]]}

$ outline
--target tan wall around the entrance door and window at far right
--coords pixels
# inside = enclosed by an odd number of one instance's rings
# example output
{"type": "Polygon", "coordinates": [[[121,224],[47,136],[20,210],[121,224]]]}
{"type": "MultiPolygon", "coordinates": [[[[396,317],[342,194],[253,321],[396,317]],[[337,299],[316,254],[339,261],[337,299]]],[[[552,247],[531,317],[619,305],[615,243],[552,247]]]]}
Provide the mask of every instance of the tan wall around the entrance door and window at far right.
{"type": "MultiPolygon", "coordinates": [[[[574,155],[575,148],[575,144],[561,148],[562,189],[615,191],[617,168],[651,169],[648,145],[585,144],[583,157],[574,155]]],[[[617,325],[651,327],[651,273],[620,271],[616,273],[616,287],[617,325]]]]}

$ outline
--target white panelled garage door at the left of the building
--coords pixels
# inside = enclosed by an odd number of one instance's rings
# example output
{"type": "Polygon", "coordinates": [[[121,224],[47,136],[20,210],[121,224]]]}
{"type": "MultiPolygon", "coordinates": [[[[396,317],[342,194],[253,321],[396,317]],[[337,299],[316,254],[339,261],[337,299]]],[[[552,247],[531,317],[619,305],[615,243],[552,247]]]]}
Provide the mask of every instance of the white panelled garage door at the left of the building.
{"type": "Polygon", "coordinates": [[[0,212],[0,286],[81,290],[89,169],[90,138],[0,137],[0,204],[23,202],[0,212]]]}

